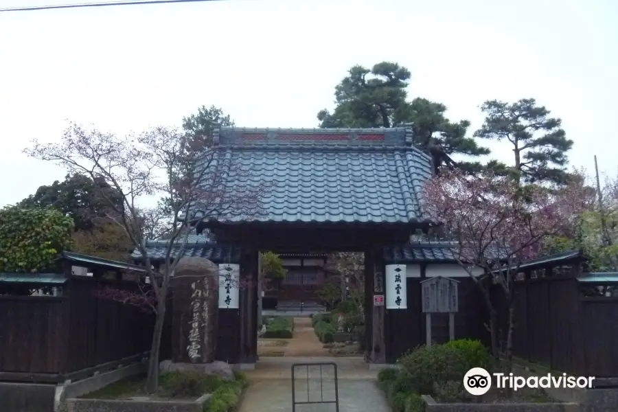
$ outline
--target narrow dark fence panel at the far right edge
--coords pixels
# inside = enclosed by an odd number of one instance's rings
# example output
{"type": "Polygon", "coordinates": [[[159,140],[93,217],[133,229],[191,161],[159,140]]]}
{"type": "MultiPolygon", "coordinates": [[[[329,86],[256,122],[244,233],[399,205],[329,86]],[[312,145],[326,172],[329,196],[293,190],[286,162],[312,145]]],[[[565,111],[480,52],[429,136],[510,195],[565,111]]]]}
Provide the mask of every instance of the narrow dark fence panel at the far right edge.
{"type": "Polygon", "coordinates": [[[580,335],[584,360],[580,374],[618,376],[618,299],[591,298],[580,301],[580,335]]]}

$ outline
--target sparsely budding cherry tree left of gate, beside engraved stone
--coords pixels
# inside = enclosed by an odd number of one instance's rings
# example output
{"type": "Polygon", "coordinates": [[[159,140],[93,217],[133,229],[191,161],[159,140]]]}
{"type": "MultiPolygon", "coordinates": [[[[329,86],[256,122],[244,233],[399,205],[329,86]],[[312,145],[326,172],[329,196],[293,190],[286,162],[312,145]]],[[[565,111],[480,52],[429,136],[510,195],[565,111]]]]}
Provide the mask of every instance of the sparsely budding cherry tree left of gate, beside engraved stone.
{"type": "Polygon", "coordinates": [[[200,220],[225,222],[235,216],[259,216],[263,213],[261,199],[268,187],[263,182],[236,184],[251,181],[252,170],[227,158],[221,160],[216,147],[196,148],[194,144],[190,135],[175,128],[157,127],[121,137],[71,123],[60,143],[41,144],[35,140],[24,150],[36,159],[58,163],[69,172],[102,180],[120,194],[120,203],[104,191],[98,195],[108,203],[107,217],[126,232],[141,253],[150,291],[141,296],[121,296],[118,291],[104,290],[102,295],[150,308],[156,314],[146,382],[148,393],[154,393],[159,386],[165,304],[172,274],[192,226],[200,220]],[[140,206],[148,197],[160,198],[166,218],[140,206]],[[165,227],[159,226],[155,231],[165,233],[167,247],[164,263],[155,272],[146,249],[148,231],[144,228],[162,222],[165,227]]]}

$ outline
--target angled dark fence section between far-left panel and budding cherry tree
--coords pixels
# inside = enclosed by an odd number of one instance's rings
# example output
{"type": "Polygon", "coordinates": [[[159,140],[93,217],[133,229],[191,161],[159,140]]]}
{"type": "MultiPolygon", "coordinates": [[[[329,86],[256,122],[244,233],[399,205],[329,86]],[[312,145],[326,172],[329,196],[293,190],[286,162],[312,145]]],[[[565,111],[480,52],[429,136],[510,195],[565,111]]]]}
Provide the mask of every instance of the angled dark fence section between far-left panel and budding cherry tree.
{"type": "Polygon", "coordinates": [[[150,350],[155,316],[137,306],[98,297],[104,286],[139,293],[128,283],[71,279],[69,355],[66,373],[119,361],[150,350]]]}

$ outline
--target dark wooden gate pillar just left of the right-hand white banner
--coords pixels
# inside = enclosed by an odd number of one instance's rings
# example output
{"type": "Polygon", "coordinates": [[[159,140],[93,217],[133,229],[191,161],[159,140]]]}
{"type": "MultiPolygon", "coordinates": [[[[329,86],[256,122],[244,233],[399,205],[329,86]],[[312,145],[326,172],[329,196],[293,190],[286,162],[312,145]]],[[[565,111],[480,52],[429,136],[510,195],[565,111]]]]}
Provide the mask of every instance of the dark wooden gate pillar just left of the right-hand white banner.
{"type": "Polygon", "coordinates": [[[385,331],[385,315],[386,306],[385,299],[382,301],[382,305],[374,305],[374,296],[385,296],[385,265],[382,260],[381,251],[369,251],[365,255],[371,256],[369,260],[369,273],[374,279],[373,288],[368,290],[367,293],[371,295],[371,362],[373,363],[386,363],[386,331],[385,331]]]}

